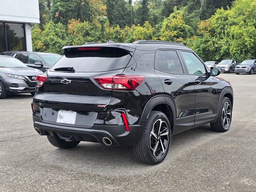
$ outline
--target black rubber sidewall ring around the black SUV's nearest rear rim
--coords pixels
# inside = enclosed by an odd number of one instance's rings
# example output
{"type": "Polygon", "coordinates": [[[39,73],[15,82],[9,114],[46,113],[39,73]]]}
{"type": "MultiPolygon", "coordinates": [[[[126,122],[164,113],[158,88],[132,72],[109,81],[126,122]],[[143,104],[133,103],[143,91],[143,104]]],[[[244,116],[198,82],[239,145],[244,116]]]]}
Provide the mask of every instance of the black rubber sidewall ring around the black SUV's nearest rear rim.
{"type": "Polygon", "coordinates": [[[146,134],[146,138],[147,138],[147,141],[146,141],[146,144],[147,144],[147,150],[148,150],[148,154],[150,156],[150,159],[155,163],[155,164],[158,164],[160,162],[162,162],[164,160],[164,158],[166,157],[166,155],[168,154],[168,151],[169,151],[169,148],[170,148],[170,143],[171,143],[171,126],[170,126],[170,122],[168,120],[168,118],[166,117],[165,114],[163,113],[160,113],[158,115],[156,115],[154,118],[152,118],[148,124],[149,128],[147,130],[147,134],[146,134]],[[169,138],[169,143],[167,145],[167,148],[166,148],[166,152],[165,154],[163,154],[160,158],[156,158],[152,152],[151,152],[151,149],[150,149],[150,132],[152,130],[152,127],[154,125],[154,123],[156,122],[156,120],[158,119],[162,119],[166,122],[167,126],[168,126],[168,131],[169,131],[169,134],[168,134],[168,138],[169,138]]]}

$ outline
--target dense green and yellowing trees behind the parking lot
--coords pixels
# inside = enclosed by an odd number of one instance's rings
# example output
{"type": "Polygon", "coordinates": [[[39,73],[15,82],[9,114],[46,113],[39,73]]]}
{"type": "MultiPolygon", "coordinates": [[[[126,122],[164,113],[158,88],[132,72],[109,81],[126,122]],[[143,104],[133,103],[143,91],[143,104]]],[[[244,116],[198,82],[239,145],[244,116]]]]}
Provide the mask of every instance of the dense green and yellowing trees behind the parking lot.
{"type": "Polygon", "coordinates": [[[256,0],[39,0],[34,51],[86,42],[175,41],[203,60],[255,58],[256,0]],[[105,17],[104,17],[105,16],[105,17]]]}

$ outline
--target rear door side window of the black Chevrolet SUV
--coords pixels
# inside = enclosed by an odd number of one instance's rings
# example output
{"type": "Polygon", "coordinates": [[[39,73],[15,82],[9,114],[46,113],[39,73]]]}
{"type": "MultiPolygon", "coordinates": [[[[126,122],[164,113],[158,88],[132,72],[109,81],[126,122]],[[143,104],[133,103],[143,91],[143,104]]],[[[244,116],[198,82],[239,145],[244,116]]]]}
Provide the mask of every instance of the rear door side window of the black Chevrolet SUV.
{"type": "Polygon", "coordinates": [[[166,73],[184,73],[180,59],[176,51],[158,51],[156,52],[156,69],[166,73]]]}

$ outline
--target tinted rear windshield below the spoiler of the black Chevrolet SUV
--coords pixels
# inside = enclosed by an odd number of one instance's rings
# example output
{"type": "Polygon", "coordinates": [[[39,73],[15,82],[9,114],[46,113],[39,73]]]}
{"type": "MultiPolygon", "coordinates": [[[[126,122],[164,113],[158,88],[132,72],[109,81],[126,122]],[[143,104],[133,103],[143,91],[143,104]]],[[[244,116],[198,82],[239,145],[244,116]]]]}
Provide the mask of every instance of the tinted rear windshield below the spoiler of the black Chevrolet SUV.
{"type": "Polygon", "coordinates": [[[70,48],[51,68],[73,67],[76,72],[104,72],[125,68],[131,59],[128,50],[116,47],[70,48]]]}

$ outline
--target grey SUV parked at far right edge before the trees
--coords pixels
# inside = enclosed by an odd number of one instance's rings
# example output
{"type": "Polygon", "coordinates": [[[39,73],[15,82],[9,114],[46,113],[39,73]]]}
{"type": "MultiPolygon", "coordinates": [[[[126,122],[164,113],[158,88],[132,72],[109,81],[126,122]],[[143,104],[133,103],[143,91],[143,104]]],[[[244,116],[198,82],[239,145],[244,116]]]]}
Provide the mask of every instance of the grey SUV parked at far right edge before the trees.
{"type": "Polygon", "coordinates": [[[256,60],[244,60],[240,65],[236,66],[235,71],[237,75],[239,75],[240,73],[248,73],[251,75],[254,74],[254,72],[256,72],[256,60]]]}

